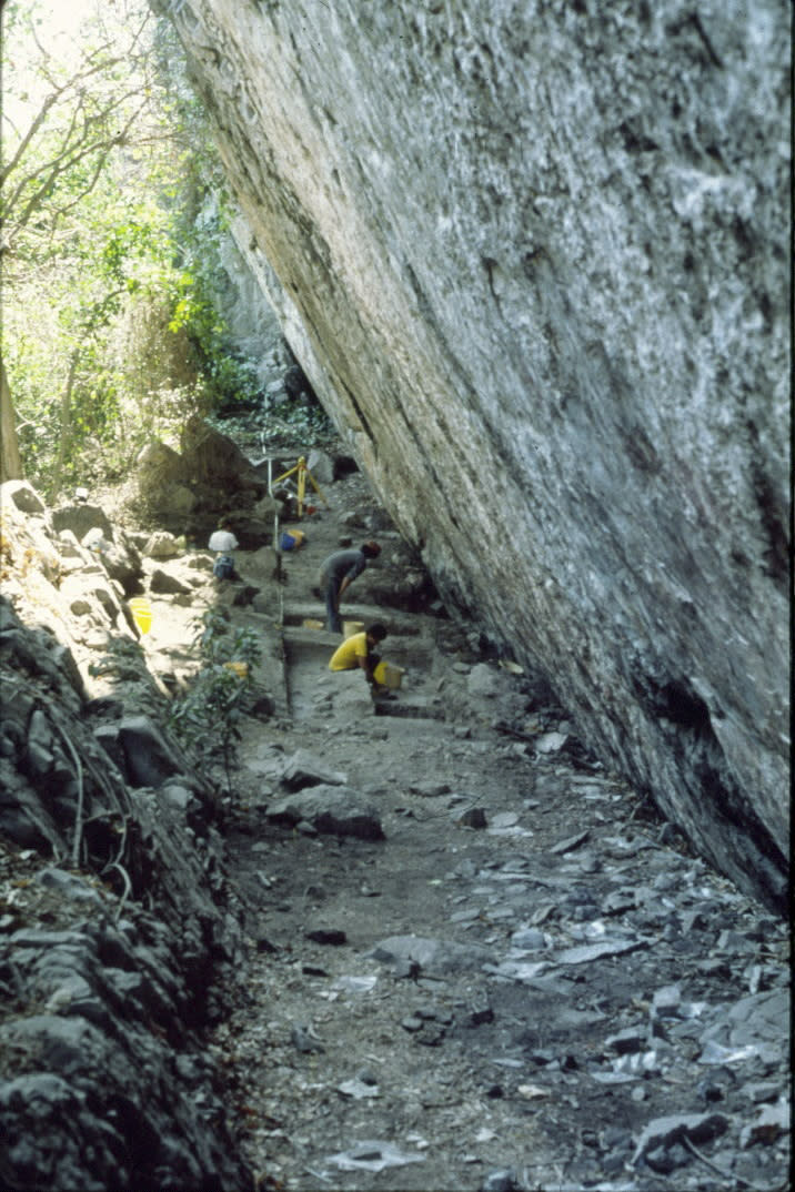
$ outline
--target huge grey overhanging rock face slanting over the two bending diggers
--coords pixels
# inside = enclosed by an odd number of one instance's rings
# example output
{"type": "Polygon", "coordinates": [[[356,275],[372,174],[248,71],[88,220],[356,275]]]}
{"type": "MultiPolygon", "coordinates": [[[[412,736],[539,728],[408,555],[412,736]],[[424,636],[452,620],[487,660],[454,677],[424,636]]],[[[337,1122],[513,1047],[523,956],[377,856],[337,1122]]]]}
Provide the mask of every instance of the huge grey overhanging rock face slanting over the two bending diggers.
{"type": "Polygon", "coordinates": [[[781,905],[788,8],[160,5],[251,266],[443,595],[781,905]]]}

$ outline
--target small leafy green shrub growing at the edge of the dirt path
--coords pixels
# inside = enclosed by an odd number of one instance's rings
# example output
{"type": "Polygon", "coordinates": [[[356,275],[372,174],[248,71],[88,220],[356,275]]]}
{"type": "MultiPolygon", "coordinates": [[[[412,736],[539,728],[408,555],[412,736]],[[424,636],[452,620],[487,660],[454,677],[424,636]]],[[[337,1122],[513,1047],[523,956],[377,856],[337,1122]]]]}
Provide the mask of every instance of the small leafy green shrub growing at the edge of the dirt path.
{"type": "Polygon", "coordinates": [[[262,651],[254,631],[232,626],[224,610],[209,608],[198,621],[194,640],[201,669],[185,695],[173,701],[168,727],[200,759],[223,762],[230,793],[240,720],[250,703],[251,671],[262,651]]]}

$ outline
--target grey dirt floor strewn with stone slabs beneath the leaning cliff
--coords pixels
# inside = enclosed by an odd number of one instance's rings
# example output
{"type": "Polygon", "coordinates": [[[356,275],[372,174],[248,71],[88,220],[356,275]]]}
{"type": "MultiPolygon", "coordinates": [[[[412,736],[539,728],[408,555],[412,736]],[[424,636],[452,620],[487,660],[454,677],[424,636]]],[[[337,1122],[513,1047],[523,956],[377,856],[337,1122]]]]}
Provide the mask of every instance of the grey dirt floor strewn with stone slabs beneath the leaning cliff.
{"type": "MultiPolygon", "coordinates": [[[[397,534],[374,528],[359,476],[324,493],[280,583],[247,552],[242,583],[212,582],[261,633],[275,704],[246,720],[232,775],[248,964],[211,1044],[259,1187],[783,1188],[787,1128],[749,1131],[787,1088],[787,1016],[764,1038],[759,1017],[785,991],[784,925],[605,772],[528,676],[465,626],[379,602],[399,586],[397,534]],[[389,627],[404,675],[381,703],[328,670],[340,639],[304,623],[323,617],[322,560],[369,538],[383,553],[342,611],[389,627]],[[274,821],[296,755],[317,769],[299,794],[324,780],[384,838],[274,821]]],[[[191,610],[154,603],[147,648],[173,665],[191,610]]]]}

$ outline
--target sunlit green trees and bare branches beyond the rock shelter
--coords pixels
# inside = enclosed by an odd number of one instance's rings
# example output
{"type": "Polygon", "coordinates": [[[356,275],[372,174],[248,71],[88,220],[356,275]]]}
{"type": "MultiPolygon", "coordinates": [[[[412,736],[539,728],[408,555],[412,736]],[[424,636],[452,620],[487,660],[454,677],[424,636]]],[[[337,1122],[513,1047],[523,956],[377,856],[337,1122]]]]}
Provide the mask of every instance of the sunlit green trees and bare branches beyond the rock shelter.
{"type": "Polygon", "coordinates": [[[228,195],[170,26],[43,0],[4,23],[2,359],[25,474],[122,479],[192,412],[259,396],[218,310],[228,195]]]}

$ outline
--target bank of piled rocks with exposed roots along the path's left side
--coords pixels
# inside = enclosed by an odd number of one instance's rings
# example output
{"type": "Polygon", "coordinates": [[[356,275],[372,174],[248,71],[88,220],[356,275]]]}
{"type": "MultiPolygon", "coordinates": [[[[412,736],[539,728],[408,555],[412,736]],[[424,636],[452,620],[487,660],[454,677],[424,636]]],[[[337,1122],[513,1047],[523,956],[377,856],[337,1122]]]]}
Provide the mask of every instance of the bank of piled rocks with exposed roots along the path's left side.
{"type": "Polygon", "coordinates": [[[17,482],[2,522],[0,1181],[246,1187],[201,1043],[240,927],[213,788],[136,653],[143,566],[101,510],[17,482]]]}

